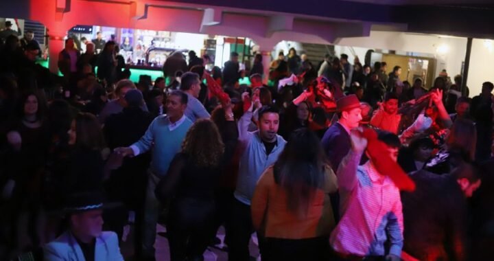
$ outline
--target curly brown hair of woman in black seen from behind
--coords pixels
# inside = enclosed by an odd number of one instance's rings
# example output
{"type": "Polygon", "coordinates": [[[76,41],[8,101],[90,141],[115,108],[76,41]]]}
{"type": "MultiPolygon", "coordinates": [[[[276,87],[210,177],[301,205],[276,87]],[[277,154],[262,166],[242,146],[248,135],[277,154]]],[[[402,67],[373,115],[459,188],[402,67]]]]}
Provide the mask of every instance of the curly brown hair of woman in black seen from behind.
{"type": "Polygon", "coordinates": [[[197,166],[218,166],[223,156],[224,144],[216,124],[209,119],[197,120],[187,131],[182,152],[187,153],[197,166]]]}

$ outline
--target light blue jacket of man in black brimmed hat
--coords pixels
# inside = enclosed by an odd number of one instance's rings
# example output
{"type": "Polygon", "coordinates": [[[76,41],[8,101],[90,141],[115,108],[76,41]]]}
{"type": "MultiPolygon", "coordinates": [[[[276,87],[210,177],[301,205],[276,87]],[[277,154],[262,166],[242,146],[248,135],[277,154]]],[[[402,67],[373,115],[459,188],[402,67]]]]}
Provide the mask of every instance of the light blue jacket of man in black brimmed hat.
{"type": "MultiPolygon", "coordinates": [[[[46,261],[85,261],[77,240],[70,231],[65,232],[53,242],[45,245],[46,261]]],[[[96,238],[95,261],[124,261],[119,249],[115,232],[103,232],[96,238]]]]}

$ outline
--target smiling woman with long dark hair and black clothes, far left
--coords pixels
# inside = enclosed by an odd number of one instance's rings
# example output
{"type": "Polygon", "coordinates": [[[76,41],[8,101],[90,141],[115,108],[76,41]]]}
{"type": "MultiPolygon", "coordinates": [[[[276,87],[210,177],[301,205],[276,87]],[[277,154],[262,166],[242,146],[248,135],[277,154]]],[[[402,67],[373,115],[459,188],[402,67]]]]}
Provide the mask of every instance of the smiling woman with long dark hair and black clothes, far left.
{"type": "Polygon", "coordinates": [[[28,212],[27,233],[32,246],[38,247],[38,216],[45,155],[49,144],[49,131],[45,122],[43,100],[36,92],[27,92],[19,100],[19,116],[7,134],[8,153],[5,155],[8,184],[13,185],[8,210],[10,216],[10,245],[17,243],[19,216],[28,212]]]}

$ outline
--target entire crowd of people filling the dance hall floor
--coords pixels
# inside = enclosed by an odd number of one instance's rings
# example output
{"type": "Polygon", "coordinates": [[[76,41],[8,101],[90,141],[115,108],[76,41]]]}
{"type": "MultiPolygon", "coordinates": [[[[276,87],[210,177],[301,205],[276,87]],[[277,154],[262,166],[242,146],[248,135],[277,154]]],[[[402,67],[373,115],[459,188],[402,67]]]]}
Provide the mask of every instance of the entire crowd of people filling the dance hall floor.
{"type": "Polygon", "coordinates": [[[156,260],[158,223],[171,260],[203,260],[220,226],[234,261],[253,233],[268,261],[493,256],[493,83],[470,99],[461,76],[425,89],[295,49],[268,76],[255,56],[250,86],[235,53],[134,83],[115,47],[68,38],[63,77],[17,36],[1,47],[2,260],[124,260],[129,223],[134,260],[156,260]]]}

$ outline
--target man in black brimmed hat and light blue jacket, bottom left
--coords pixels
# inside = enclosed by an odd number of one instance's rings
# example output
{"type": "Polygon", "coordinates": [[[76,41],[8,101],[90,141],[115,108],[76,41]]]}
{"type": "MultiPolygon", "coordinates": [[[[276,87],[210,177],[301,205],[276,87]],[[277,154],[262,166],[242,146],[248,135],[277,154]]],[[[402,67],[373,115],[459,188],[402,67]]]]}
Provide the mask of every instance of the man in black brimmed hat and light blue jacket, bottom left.
{"type": "Polygon", "coordinates": [[[103,229],[103,196],[99,192],[78,192],[67,198],[64,209],[69,229],[44,248],[45,260],[124,260],[117,234],[103,229]]]}

